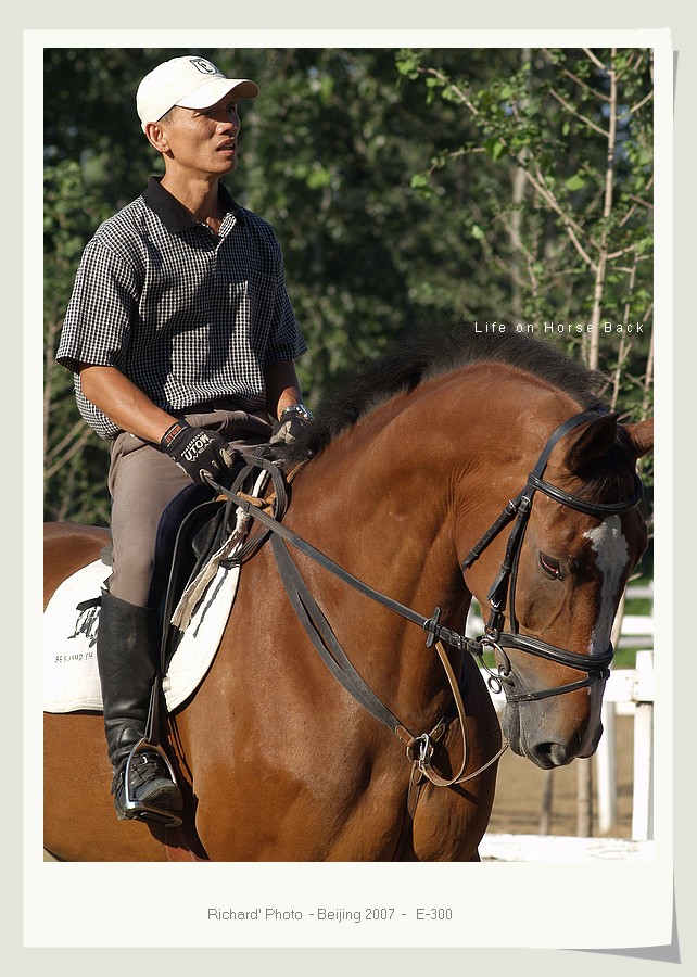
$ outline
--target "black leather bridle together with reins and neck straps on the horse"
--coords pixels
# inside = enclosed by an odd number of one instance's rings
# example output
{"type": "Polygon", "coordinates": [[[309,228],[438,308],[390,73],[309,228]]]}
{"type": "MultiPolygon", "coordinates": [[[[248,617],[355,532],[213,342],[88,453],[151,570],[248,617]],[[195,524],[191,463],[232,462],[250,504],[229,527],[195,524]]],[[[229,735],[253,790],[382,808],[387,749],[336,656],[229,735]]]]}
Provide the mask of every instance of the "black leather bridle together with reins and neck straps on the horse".
{"type": "MultiPolygon", "coordinates": [[[[462,574],[465,574],[467,570],[472,566],[472,563],[493,542],[493,540],[498,536],[502,530],[515,520],[508,537],[504,561],[486,595],[486,599],[490,601],[491,613],[485,625],[485,633],[481,637],[476,639],[468,638],[464,634],[460,634],[456,631],[451,631],[449,629],[442,626],[440,623],[441,609],[439,607],[435,608],[433,614],[430,618],[423,617],[406,605],[400,604],[400,601],[394,600],[393,598],[388,597],[385,594],[376,591],[373,587],[368,586],[363,581],[348,573],[348,571],[344,570],[343,567],[339,566],[339,563],[334,562],[334,560],[330,559],[328,556],[318,550],[306,540],[303,540],[302,536],[299,536],[292,530],[288,529],[288,526],[283,525],[283,523],[280,522],[280,519],[282,518],[282,515],[284,513],[288,505],[286,480],[274,462],[267,461],[266,459],[257,455],[241,454],[240,456],[242,460],[248,465],[248,468],[244,472],[242,472],[240,477],[238,477],[232,488],[226,488],[225,486],[217,484],[213,480],[208,480],[211,486],[220,495],[223,495],[229,504],[241,509],[248,517],[251,517],[252,519],[258,521],[265,530],[265,532],[263,532],[259,537],[248,543],[245,547],[245,555],[251,551],[255,551],[270,536],[270,544],[274,550],[274,556],[276,558],[279,574],[281,576],[283,586],[286,587],[289,599],[293,608],[295,609],[295,612],[301,623],[303,624],[303,627],[307,632],[315,648],[321,656],[331,673],[353,696],[353,698],[356,699],[356,701],[358,701],[379,722],[391,729],[391,732],[405,745],[407,757],[414,764],[413,776],[410,781],[410,792],[411,785],[418,784],[421,776],[426,776],[435,786],[444,787],[449,787],[455,784],[460,784],[464,781],[471,779],[487,766],[490,766],[492,763],[494,763],[508,747],[508,744],[504,741],[503,747],[491,760],[489,760],[474,773],[465,776],[465,769],[467,766],[468,760],[468,743],[461,682],[458,682],[455,673],[453,672],[453,668],[445,652],[444,645],[449,645],[451,647],[457,648],[462,652],[469,651],[471,655],[479,658],[482,668],[489,673],[490,686],[494,691],[500,691],[503,689],[506,695],[507,702],[522,702],[544,699],[579,688],[585,688],[596,681],[605,680],[608,677],[609,665],[614,655],[611,643],[609,644],[607,650],[601,655],[590,658],[588,656],[580,655],[575,651],[568,651],[563,648],[558,648],[555,645],[549,645],[546,642],[540,640],[537,638],[520,634],[515,616],[515,594],[518,561],[522,548],[525,528],[533,505],[533,498],[536,492],[542,492],[544,495],[547,495],[549,498],[560,503],[561,505],[568,506],[572,509],[576,509],[578,511],[585,512],[587,515],[596,516],[600,519],[607,516],[629,512],[631,509],[635,508],[642,499],[643,485],[638,475],[636,474],[634,494],[630,498],[619,503],[594,503],[581,496],[565,492],[562,488],[559,488],[556,485],[552,485],[549,482],[546,482],[543,479],[547,461],[555,445],[566,434],[568,434],[569,431],[573,430],[579,424],[593,420],[599,416],[601,416],[601,411],[598,410],[584,411],[574,415],[555,429],[549,440],[547,441],[542,454],[540,455],[535,467],[529,474],[525,485],[523,486],[521,492],[515,497],[515,499],[509,500],[506,504],[502,513],[498,516],[492,526],[486,530],[483,536],[472,547],[468,556],[462,561],[461,571],[462,574]],[[261,499],[245,496],[243,493],[237,491],[242,484],[244,475],[249,471],[258,468],[266,470],[270,474],[274,482],[275,499],[274,505],[271,506],[270,515],[265,512],[262,508],[264,503],[261,499]],[[427,633],[426,646],[427,648],[430,648],[435,645],[436,652],[441,659],[441,663],[445,671],[448,685],[453,693],[453,703],[451,706],[451,709],[433,727],[433,729],[431,729],[429,733],[421,733],[419,735],[415,735],[414,733],[411,733],[407,728],[407,726],[394,715],[394,713],[384,705],[384,702],[382,702],[379,697],[372,691],[372,689],[364,682],[364,680],[351,663],[345,651],[341,647],[341,644],[331,630],[331,626],[327,621],[324,612],[309,593],[305,581],[303,580],[300,571],[297,570],[297,567],[290,556],[288,544],[305,554],[305,556],[309,557],[316,563],[324,567],[326,570],[334,574],[334,576],[342,580],[358,593],[364,594],[369,599],[382,605],[383,607],[389,608],[405,620],[410,621],[414,624],[418,624],[427,633]],[[510,632],[504,632],[500,630],[504,621],[504,610],[507,597],[509,599],[510,608],[510,632]],[[510,660],[506,655],[506,651],[504,650],[506,648],[525,651],[530,655],[555,661],[558,664],[562,664],[569,669],[585,672],[586,677],[581,678],[578,682],[568,683],[566,685],[556,686],[549,689],[543,689],[534,693],[514,694],[509,688],[506,687],[512,685],[512,680],[509,677],[512,669],[510,660]],[[498,674],[492,672],[491,669],[489,669],[483,662],[483,655],[486,649],[497,651],[504,660],[504,664],[498,665],[498,674]],[[449,721],[455,715],[457,715],[460,721],[460,731],[462,736],[462,761],[458,773],[452,778],[445,778],[442,777],[433,769],[433,766],[431,765],[431,759],[434,753],[434,744],[443,736],[449,721]]],[[[414,801],[414,803],[416,803],[416,801],[414,801]]]]}

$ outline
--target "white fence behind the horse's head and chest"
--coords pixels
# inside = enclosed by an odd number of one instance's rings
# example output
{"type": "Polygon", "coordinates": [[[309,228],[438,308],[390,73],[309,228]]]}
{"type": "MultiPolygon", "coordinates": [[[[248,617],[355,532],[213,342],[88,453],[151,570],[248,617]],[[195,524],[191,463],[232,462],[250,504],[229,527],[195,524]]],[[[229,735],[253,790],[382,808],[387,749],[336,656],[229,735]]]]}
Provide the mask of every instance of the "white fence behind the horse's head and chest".
{"type": "MultiPolygon", "coordinates": [[[[650,587],[634,587],[629,597],[652,597],[650,587]]],[[[468,634],[482,633],[481,618],[468,620],[468,634]]],[[[579,838],[552,835],[487,834],[480,845],[484,861],[646,861],[652,857],[654,837],[654,619],[625,614],[618,646],[636,648],[634,669],[613,670],[603,705],[604,734],[595,754],[598,827],[608,832],[617,822],[616,718],[634,718],[633,796],[631,838],[579,838]]],[[[505,697],[491,693],[500,712],[505,697]]]]}

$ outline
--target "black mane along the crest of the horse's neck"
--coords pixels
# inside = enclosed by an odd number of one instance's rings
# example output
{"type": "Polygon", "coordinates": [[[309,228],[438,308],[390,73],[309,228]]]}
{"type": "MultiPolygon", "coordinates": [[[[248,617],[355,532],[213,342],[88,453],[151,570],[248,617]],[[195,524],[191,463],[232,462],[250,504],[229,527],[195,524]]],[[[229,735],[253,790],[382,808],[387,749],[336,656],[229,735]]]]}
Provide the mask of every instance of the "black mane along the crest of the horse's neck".
{"type": "Polygon", "coordinates": [[[549,343],[527,333],[479,333],[472,326],[421,330],[388,353],[344,375],[321,402],[315,422],[283,458],[318,455],[340,434],[380,404],[419,383],[481,361],[504,363],[525,370],[579,402],[583,410],[601,406],[606,378],[569,359],[549,343]]]}

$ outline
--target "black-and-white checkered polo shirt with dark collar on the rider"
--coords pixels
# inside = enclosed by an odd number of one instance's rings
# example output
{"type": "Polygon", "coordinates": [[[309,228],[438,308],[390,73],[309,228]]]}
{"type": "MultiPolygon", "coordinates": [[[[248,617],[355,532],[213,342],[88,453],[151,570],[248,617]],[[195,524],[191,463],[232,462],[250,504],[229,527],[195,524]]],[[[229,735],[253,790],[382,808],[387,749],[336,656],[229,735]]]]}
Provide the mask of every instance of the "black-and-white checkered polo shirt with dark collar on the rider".
{"type": "Polygon", "coordinates": [[[221,397],[257,410],[264,369],[306,351],[271,226],[219,193],[216,236],[151,177],[85,249],[56,360],[101,437],[119,428],[83,394],[80,364],[116,367],[173,414],[221,397]]]}

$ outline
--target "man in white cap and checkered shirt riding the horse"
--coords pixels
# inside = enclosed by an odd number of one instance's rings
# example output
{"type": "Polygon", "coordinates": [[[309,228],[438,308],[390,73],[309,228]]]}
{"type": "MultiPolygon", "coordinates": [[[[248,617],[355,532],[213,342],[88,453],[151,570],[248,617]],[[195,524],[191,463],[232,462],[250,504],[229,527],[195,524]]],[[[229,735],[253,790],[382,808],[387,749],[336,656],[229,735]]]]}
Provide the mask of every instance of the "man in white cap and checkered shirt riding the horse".
{"type": "Polygon", "coordinates": [[[87,244],[56,354],[84,419],[111,441],[113,567],[97,660],[121,819],[166,820],[182,807],[144,738],[160,517],[191,482],[218,478],[236,447],[283,441],[309,418],[280,244],[220,183],[237,168],[238,101],[257,94],[254,81],[192,55],[142,79],[137,111],[164,176],[87,244]]]}

